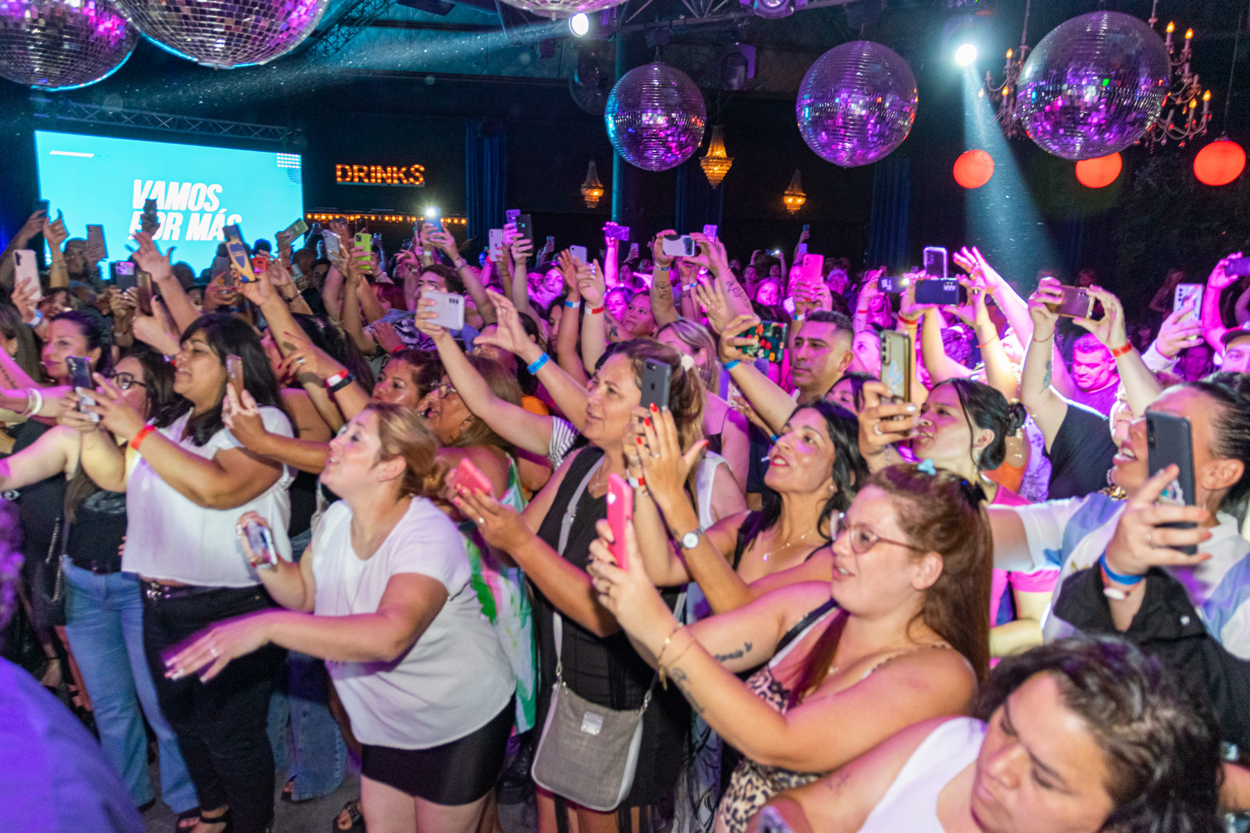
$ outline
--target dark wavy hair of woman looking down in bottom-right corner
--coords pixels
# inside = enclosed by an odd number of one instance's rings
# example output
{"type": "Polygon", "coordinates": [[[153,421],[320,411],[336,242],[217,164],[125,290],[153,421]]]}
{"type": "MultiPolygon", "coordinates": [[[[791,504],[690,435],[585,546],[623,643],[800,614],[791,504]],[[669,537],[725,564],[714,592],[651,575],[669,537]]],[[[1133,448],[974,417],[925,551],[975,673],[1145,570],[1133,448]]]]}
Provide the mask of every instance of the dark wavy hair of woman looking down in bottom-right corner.
{"type": "Polygon", "coordinates": [[[1072,637],[1006,657],[981,689],[978,717],[989,721],[1038,674],[1055,681],[1106,757],[1115,808],[1100,829],[1224,829],[1219,724],[1182,677],[1119,636],[1072,637]]]}

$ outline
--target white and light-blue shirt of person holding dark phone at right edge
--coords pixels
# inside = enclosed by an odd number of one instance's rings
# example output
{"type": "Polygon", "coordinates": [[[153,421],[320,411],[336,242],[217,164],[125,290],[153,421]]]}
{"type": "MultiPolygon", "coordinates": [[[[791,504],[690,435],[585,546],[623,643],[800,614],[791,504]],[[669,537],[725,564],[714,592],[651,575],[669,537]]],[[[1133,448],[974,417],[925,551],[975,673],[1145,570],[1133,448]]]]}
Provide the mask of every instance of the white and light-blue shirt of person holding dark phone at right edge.
{"type": "MultiPolygon", "coordinates": [[[[1040,559],[1060,568],[1051,609],[1059,599],[1064,579],[1098,563],[1115,535],[1125,506],[1124,501],[1095,492],[1085,497],[1011,507],[1024,522],[1034,563],[1040,559]]],[[[1250,659],[1250,558],[1246,558],[1250,542],[1241,537],[1231,515],[1221,512],[1215,520],[1219,523],[1211,527],[1211,537],[1198,545],[1199,552],[1211,557],[1192,567],[1165,569],[1185,586],[1189,601],[1202,617],[1208,632],[1229,653],[1250,659]]],[[[1048,616],[1042,624],[1048,642],[1072,632],[1072,626],[1056,616],[1048,616]]]]}

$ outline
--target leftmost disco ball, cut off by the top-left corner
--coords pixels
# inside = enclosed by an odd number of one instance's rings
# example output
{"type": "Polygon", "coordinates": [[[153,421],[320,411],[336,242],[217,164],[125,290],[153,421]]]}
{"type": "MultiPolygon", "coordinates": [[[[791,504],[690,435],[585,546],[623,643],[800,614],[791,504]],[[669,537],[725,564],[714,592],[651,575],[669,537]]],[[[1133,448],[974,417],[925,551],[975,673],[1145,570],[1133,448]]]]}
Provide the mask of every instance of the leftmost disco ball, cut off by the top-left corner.
{"type": "Polygon", "coordinates": [[[138,40],[108,0],[0,0],[0,76],[39,90],[109,77],[138,40]]]}

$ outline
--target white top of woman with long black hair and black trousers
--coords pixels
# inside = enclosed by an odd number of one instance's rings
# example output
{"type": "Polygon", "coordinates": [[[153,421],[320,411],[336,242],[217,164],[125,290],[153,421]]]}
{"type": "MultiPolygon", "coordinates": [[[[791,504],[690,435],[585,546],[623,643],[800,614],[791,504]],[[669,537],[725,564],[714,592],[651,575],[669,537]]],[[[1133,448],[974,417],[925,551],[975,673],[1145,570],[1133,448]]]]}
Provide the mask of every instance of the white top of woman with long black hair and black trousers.
{"type": "MultiPolygon", "coordinates": [[[[206,443],[196,446],[182,437],[190,412],[172,425],[158,428],[162,435],[206,460],[219,451],[242,445],[221,428],[206,443]]],[[[260,418],[270,433],[291,436],[291,423],[275,407],[260,408],[260,418]]],[[[126,478],[126,548],[121,568],[148,578],[164,578],[202,587],[251,587],[260,583],[255,567],[248,563],[235,522],[246,512],[258,512],[269,521],[278,555],[291,558],[286,525],[291,518],[291,496],[286,487],[295,476],[282,466],[282,475],[255,500],[231,510],[209,510],[165,482],[146,460],[140,460],[126,478]]]]}

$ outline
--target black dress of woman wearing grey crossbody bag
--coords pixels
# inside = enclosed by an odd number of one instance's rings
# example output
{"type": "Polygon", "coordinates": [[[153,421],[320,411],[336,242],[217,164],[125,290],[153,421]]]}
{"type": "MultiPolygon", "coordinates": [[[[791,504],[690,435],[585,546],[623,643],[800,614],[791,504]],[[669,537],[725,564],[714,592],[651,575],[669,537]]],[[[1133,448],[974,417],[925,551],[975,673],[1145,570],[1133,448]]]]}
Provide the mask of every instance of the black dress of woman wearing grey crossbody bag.
{"type": "MultiPolygon", "coordinates": [[[[559,551],[560,521],[564,517],[572,493],[578,490],[586,472],[599,462],[602,451],[588,447],[578,453],[576,460],[560,483],[555,501],[548,511],[539,537],[552,550],[559,551]]],[[[599,537],[595,522],[608,517],[608,501],[592,497],[590,490],[581,495],[576,507],[576,521],[569,531],[564,558],[580,569],[590,562],[590,542],[599,537]]],[[[678,598],[678,589],[664,592],[671,608],[678,598]]],[[[555,682],[555,633],[551,614],[554,607],[542,592],[534,588],[534,627],[538,631],[539,664],[541,684],[539,686],[538,716],[535,724],[542,726],[548,708],[551,704],[551,686],[555,682]]],[[[655,669],[651,668],[630,644],[624,632],[600,638],[580,624],[564,618],[562,664],[564,681],[568,686],[592,703],[614,709],[639,708],[646,694],[655,669]]],[[[690,728],[690,708],[676,686],[665,691],[659,684],[651,694],[651,704],[642,717],[642,743],[639,749],[638,769],[634,786],[621,807],[648,807],[658,803],[676,783],[678,773],[686,752],[686,734],[690,728]]]]}

